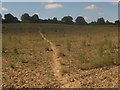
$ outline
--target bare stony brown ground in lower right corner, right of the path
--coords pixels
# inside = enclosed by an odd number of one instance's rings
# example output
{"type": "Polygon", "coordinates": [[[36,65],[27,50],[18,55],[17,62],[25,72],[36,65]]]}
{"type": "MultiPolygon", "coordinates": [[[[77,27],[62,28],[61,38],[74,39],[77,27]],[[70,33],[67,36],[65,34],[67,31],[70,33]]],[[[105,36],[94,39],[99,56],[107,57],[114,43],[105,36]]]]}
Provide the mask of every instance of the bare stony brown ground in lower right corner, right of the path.
{"type": "Polygon", "coordinates": [[[69,78],[76,88],[118,88],[118,66],[78,70],[69,78]]]}

